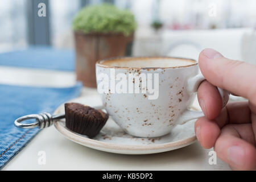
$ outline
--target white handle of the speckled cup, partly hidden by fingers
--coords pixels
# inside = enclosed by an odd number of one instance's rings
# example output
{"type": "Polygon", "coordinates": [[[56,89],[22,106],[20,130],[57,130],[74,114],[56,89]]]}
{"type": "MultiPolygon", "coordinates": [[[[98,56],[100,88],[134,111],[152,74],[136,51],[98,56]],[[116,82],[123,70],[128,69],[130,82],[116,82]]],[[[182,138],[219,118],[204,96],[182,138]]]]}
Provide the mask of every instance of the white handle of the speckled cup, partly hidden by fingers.
{"type": "MultiPolygon", "coordinates": [[[[197,92],[199,85],[204,80],[205,80],[205,78],[202,75],[202,73],[199,73],[195,77],[189,78],[188,82],[187,82],[188,93],[192,94],[192,93],[197,92]]],[[[229,101],[230,93],[227,90],[224,90],[224,89],[221,89],[218,87],[217,87],[217,89],[222,98],[222,108],[223,108],[229,101]]],[[[191,119],[197,119],[197,118],[201,118],[201,117],[204,117],[204,113],[202,111],[193,111],[193,110],[187,109],[181,114],[180,118],[178,119],[178,121],[176,123],[177,123],[177,125],[183,125],[184,123],[190,121],[191,119]]]]}

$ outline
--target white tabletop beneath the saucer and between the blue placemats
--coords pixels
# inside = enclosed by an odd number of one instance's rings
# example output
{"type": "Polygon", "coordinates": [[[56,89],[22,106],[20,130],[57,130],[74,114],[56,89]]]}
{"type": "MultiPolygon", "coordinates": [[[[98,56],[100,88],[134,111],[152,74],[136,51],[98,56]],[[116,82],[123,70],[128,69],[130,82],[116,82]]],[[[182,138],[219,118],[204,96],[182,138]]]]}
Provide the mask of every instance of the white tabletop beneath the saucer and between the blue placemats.
{"type": "MultiPolygon", "coordinates": [[[[0,83],[34,86],[71,86],[75,73],[0,67],[0,83]]],[[[97,94],[84,88],[82,96],[97,94]]],[[[61,135],[55,127],[40,131],[3,170],[229,170],[217,159],[210,165],[209,151],[198,142],[178,150],[151,155],[110,154],[81,146],[61,135]],[[46,152],[46,164],[38,164],[38,152],[46,152]]]]}

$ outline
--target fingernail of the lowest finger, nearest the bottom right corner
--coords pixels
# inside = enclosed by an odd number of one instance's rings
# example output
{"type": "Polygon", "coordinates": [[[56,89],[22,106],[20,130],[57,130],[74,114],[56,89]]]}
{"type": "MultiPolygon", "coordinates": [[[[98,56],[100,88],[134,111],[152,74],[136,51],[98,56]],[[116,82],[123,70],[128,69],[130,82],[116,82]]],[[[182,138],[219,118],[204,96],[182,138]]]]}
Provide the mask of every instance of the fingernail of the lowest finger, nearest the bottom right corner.
{"type": "Polygon", "coordinates": [[[240,146],[232,146],[228,149],[228,158],[238,166],[243,166],[245,150],[240,146]]]}

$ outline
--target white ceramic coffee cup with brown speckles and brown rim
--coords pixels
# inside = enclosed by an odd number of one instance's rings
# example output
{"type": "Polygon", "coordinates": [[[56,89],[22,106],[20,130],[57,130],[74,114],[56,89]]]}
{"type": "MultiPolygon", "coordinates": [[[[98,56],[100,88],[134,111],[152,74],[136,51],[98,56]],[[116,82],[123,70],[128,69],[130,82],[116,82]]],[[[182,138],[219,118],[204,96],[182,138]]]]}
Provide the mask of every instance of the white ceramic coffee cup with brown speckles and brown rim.
{"type": "MultiPolygon", "coordinates": [[[[160,137],[175,125],[203,117],[189,110],[205,80],[195,60],[120,57],[96,63],[97,89],[106,111],[128,134],[160,137]]],[[[229,93],[218,88],[223,106],[229,93]]]]}

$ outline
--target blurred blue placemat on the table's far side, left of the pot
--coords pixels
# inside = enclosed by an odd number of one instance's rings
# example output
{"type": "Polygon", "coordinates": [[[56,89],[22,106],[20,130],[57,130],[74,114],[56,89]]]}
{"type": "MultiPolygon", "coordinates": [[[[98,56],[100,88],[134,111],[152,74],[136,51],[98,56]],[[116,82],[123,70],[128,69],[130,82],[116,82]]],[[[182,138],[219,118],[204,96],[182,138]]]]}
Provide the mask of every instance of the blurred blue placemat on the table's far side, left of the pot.
{"type": "Polygon", "coordinates": [[[51,47],[29,47],[24,50],[0,53],[0,65],[75,71],[75,52],[51,47]]]}

